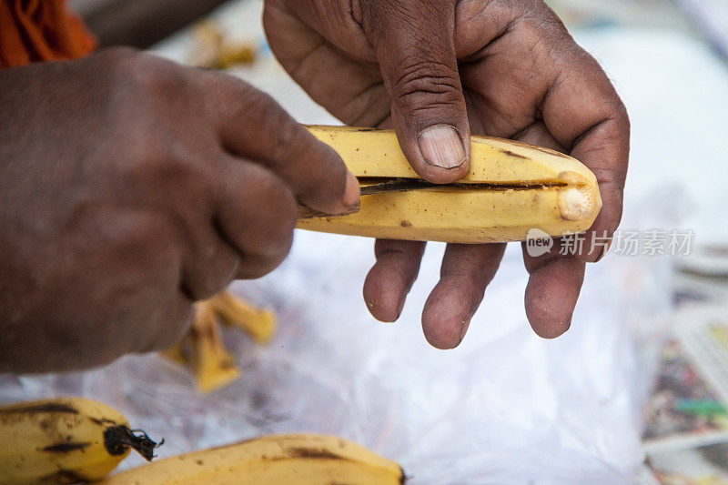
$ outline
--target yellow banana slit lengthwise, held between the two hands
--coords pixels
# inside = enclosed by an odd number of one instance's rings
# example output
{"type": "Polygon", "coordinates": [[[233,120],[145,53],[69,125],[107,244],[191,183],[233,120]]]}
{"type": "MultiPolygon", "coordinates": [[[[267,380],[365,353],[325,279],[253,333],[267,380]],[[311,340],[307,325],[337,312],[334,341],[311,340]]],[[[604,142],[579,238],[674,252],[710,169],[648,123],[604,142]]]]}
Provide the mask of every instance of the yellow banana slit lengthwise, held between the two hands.
{"type": "MultiPolygon", "coordinates": [[[[333,147],[362,187],[418,179],[392,130],[308,126],[333,147]]],[[[389,239],[486,243],[525,240],[538,228],[581,232],[602,208],[596,177],[575,158],[488,136],[470,137],[470,171],[457,184],[361,197],[359,212],[300,218],[321,232],[389,239]]]]}

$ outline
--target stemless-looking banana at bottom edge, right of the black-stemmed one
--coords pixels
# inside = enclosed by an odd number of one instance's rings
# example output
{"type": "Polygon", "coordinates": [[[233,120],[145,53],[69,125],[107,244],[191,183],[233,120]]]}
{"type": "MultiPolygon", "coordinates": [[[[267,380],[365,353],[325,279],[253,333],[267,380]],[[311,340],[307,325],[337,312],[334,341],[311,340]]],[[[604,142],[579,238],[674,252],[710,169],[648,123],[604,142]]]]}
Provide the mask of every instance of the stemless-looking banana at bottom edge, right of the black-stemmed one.
{"type": "Polygon", "coordinates": [[[395,485],[399,465],[333,436],[279,435],[158,460],[103,485],[395,485]]]}

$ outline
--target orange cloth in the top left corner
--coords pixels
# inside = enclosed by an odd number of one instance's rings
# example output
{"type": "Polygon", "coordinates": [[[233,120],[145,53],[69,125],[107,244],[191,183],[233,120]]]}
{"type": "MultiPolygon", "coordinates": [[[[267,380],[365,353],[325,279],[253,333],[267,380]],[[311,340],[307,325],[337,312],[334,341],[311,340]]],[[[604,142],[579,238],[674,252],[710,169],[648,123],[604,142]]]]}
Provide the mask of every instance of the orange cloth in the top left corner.
{"type": "Polygon", "coordinates": [[[0,0],[0,69],[91,52],[96,40],[65,4],[66,0],[0,0]]]}

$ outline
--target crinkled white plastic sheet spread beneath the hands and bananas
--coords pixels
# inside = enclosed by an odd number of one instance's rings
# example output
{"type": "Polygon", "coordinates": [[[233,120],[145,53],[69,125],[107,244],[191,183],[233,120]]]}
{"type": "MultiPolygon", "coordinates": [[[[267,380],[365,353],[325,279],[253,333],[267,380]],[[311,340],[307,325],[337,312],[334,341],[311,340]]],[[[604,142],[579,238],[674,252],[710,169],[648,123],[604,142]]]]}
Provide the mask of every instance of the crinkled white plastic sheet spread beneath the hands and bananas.
{"type": "Polygon", "coordinates": [[[625,300],[635,284],[642,298],[650,285],[662,290],[655,273],[625,278],[635,263],[618,257],[591,267],[571,330],[546,341],[525,319],[526,275],[512,246],[467,338],[443,352],[420,328],[442,252],[431,246],[399,323],[378,324],[359,288],[371,242],[299,232],[282,268],[234,287],[277,309],[278,334],[258,347],[226,330],[243,377],[207,397],[176,366],[132,356],[87,373],[5,378],[0,399],[73,394],[106,402],[164,437],[160,456],[311,431],[398,460],[416,484],[629,480],[642,460],[641,402],[625,300]]]}

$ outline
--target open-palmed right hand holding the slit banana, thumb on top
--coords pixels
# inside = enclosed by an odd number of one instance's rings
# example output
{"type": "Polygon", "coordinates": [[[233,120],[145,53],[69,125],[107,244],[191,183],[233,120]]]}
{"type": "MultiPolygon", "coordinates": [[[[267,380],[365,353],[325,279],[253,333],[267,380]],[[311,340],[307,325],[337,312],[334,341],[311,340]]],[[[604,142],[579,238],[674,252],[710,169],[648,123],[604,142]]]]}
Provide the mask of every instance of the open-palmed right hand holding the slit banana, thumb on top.
{"type": "MultiPolygon", "coordinates": [[[[622,217],[630,124],[602,68],[551,9],[538,0],[267,0],[263,21],[273,53],[315,101],[348,125],[393,126],[432,182],[467,172],[470,134],[551,147],[591,168],[603,207],[583,251],[523,254],[531,327],[544,338],[566,331],[585,264],[604,252],[593,237],[611,236],[622,217]]],[[[399,318],[423,250],[377,241],[364,284],[375,318],[399,318]]],[[[448,246],[422,312],[433,346],[460,344],[503,251],[448,246]]]]}

